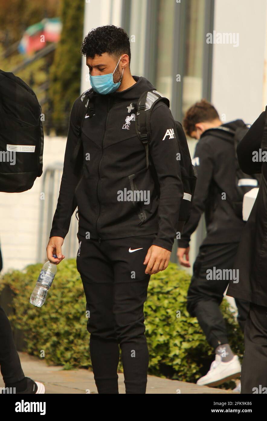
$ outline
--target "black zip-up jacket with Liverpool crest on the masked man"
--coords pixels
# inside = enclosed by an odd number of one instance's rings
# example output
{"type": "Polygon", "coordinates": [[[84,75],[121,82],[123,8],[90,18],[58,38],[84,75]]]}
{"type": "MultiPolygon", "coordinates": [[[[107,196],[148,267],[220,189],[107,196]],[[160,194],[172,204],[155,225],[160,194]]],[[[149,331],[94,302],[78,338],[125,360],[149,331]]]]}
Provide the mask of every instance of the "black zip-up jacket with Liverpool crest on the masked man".
{"type": "Polygon", "coordinates": [[[81,96],[74,101],[50,237],[65,238],[78,206],[81,236],[100,241],[157,234],[153,244],[172,250],[183,197],[175,122],[166,104],[154,106],[149,153],[160,184],[158,195],[152,172],[146,168],[144,146],[137,137],[134,121],[139,97],[155,88],[144,77],[133,77],[136,83],[124,91],[95,94],[94,116],[84,119],[81,130],[81,178],[71,165],[78,140],[77,107],[81,96]],[[131,201],[131,193],[137,190],[144,192],[144,200],[131,201]]]}

